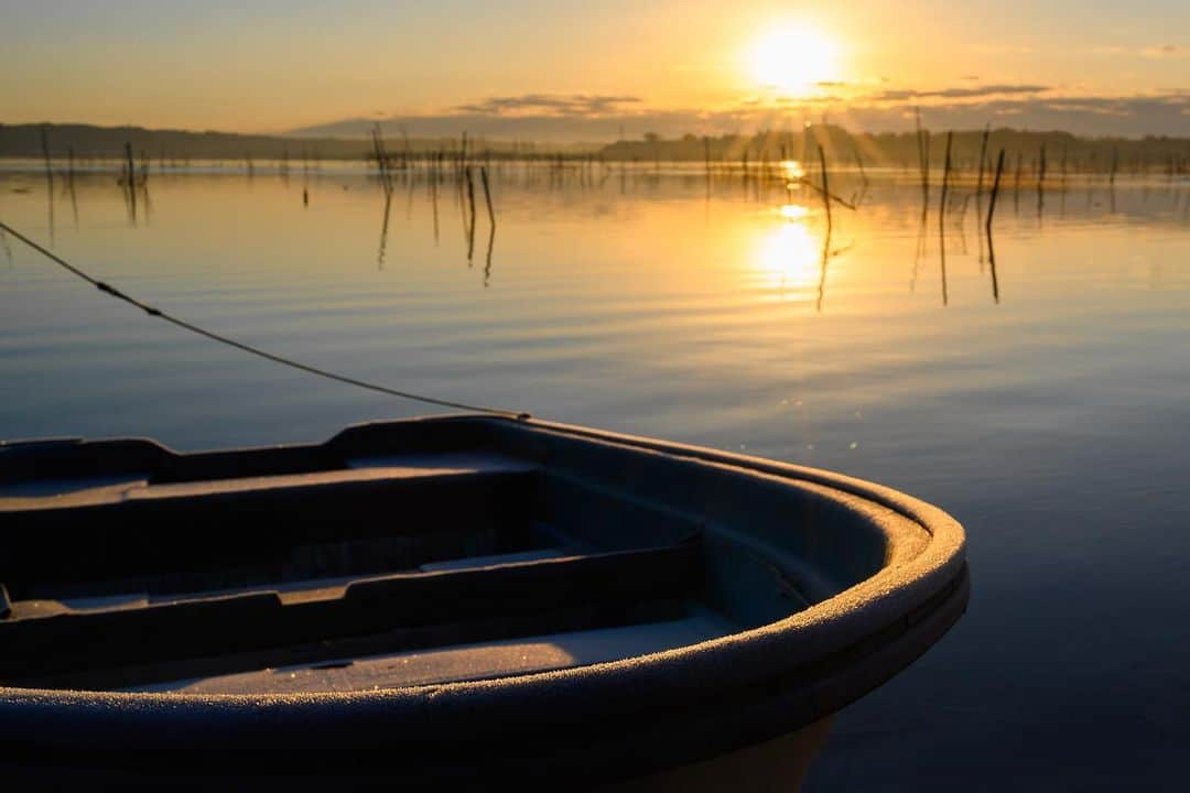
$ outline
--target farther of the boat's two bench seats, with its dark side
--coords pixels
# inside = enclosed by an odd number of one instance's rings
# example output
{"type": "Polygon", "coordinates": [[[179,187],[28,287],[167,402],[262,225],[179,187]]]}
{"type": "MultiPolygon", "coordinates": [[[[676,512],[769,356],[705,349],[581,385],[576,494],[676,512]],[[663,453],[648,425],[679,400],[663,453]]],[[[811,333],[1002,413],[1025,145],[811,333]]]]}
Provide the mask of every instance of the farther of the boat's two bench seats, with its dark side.
{"type": "Polygon", "coordinates": [[[0,580],[17,599],[242,589],[415,569],[543,542],[531,514],[533,465],[353,464],[55,495],[13,492],[17,485],[0,492],[0,580]]]}

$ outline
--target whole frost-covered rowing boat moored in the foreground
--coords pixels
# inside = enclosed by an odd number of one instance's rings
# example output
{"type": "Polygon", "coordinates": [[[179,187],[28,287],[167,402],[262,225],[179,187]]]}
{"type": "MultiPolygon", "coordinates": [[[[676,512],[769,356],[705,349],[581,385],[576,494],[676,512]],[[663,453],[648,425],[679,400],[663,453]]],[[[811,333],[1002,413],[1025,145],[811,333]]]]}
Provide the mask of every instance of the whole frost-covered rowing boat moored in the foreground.
{"type": "Polygon", "coordinates": [[[0,779],[664,774],[821,724],[969,587],[909,496],[528,418],[7,443],[0,525],[0,779]]]}

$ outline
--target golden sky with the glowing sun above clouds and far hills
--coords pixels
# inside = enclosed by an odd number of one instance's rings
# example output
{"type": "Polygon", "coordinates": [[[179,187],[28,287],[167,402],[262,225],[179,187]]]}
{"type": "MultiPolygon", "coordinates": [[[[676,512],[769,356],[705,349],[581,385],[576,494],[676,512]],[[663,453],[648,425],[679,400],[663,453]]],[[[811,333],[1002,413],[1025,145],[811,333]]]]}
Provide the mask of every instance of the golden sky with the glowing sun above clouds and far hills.
{"type": "Polygon", "coordinates": [[[282,131],[527,94],[839,112],[956,96],[889,92],[1190,92],[1186,0],[0,0],[0,30],[10,124],[282,131]]]}

